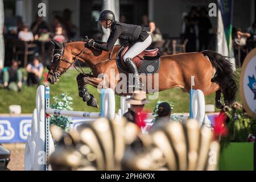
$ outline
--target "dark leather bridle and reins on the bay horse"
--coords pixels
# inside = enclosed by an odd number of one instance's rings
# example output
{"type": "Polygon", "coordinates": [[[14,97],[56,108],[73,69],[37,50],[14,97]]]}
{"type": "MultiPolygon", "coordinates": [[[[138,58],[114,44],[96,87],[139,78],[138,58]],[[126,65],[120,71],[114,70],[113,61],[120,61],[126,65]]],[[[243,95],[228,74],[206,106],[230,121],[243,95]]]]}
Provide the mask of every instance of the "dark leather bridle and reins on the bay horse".
{"type": "MultiPolygon", "coordinates": [[[[87,47],[84,47],[84,48],[82,49],[82,51],[80,51],[77,55],[75,55],[75,58],[73,58],[73,59],[75,59],[75,61],[73,61],[73,62],[67,60],[67,59],[65,58],[65,56],[64,56],[65,43],[62,43],[62,44],[61,44],[61,49],[53,49],[54,52],[55,52],[55,51],[59,51],[60,53],[55,53],[55,54],[52,56],[52,62],[53,62],[55,56],[60,56],[60,57],[59,57],[59,60],[58,60],[59,63],[57,64],[57,67],[56,67],[55,69],[51,69],[51,71],[52,71],[52,72],[51,72],[51,75],[54,76],[55,79],[59,79],[59,77],[60,77],[61,75],[63,75],[65,72],[67,72],[67,70],[73,65],[73,67],[74,67],[79,73],[81,73],[82,75],[87,76],[88,74],[86,74],[86,73],[82,70],[81,65],[80,65],[80,63],[79,63],[79,59],[78,59],[79,56],[85,51],[86,48],[87,48],[87,47]],[[58,68],[60,67],[61,61],[65,62],[65,63],[68,63],[68,64],[69,64],[69,67],[66,68],[66,69],[63,69],[63,71],[62,71],[61,73],[59,73],[59,72],[58,72],[58,68]],[[77,69],[75,63],[78,63],[79,68],[80,68],[81,71],[79,71],[79,69],[77,69]]],[[[101,64],[101,63],[104,63],[105,61],[115,60],[115,59],[112,59],[112,58],[111,58],[111,57],[112,57],[112,54],[113,54],[113,49],[114,49],[114,47],[112,48],[112,51],[110,52],[108,59],[106,59],[106,60],[104,60],[104,61],[100,61],[100,62],[98,62],[98,63],[96,63],[96,64],[93,64],[91,69],[94,69],[97,65],[99,65],[99,64],[101,64]]],[[[69,52],[69,51],[68,51],[68,52],[69,52]]],[[[71,54],[73,55],[72,52],[69,52],[69,53],[71,53],[71,54]]],[[[90,75],[91,73],[92,73],[92,71],[89,73],[89,75],[90,75]]]]}

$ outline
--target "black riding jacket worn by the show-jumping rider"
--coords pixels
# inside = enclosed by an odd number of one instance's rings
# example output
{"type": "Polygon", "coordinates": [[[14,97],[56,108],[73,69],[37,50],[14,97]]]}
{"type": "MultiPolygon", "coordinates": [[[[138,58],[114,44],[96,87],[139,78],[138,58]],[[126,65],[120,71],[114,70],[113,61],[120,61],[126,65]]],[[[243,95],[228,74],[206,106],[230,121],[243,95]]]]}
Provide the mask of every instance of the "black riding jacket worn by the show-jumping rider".
{"type": "Polygon", "coordinates": [[[105,44],[95,42],[95,48],[110,51],[118,38],[130,43],[143,42],[149,36],[147,31],[149,32],[150,28],[114,21],[110,26],[110,31],[108,41],[105,44]]]}

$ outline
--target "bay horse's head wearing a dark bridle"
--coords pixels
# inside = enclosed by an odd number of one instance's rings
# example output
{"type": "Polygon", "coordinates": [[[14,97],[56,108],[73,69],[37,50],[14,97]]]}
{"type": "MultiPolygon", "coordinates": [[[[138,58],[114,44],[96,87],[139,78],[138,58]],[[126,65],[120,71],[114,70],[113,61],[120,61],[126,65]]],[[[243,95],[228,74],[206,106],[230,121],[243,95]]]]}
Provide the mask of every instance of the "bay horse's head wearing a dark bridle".
{"type": "Polygon", "coordinates": [[[60,44],[54,40],[51,43],[55,46],[53,49],[52,61],[50,65],[47,65],[48,76],[47,81],[51,84],[55,84],[59,81],[59,77],[67,71],[67,69],[73,64],[73,59],[69,55],[64,55],[65,44],[60,44]]]}

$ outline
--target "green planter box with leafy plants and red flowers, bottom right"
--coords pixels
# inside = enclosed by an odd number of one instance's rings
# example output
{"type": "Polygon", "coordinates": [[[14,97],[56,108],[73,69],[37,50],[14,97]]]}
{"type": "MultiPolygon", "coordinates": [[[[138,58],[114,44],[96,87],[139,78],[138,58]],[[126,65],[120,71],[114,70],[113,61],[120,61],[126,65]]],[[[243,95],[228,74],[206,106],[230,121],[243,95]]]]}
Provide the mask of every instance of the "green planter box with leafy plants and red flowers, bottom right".
{"type": "Polygon", "coordinates": [[[225,106],[214,118],[214,135],[221,145],[221,171],[254,170],[255,130],[256,119],[242,109],[225,106]]]}

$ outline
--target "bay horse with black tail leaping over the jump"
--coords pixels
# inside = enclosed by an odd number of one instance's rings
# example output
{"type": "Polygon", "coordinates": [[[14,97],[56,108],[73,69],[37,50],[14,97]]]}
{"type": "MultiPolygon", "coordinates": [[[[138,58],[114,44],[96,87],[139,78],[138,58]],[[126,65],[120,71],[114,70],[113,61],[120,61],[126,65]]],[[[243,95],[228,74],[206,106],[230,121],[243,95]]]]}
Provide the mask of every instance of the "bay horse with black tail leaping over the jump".
{"type": "MultiPolygon", "coordinates": [[[[117,52],[121,46],[114,46],[112,51],[101,51],[93,47],[86,47],[86,43],[90,40],[86,38],[62,44],[52,42],[55,48],[52,63],[47,66],[47,81],[55,84],[71,65],[75,66],[74,63],[79,64],[81,61],[87,64],[92,72],[91,74],[80,72],[77,76],[79,96],[87,102],[87,105],[98,107],[97,100],[92,94],[89,94],[86,84],[97,88],[104,79],[99,77],[101,73],[104,73],[107,78],[110,77],[111,69],[114,70],[114,76],[122,73],[116,63],[117,52]]],[[[205,96],[216,93],[215,105],[218,109],[222,109],[224,105],[232,106],[235,103],[238,89],[233,65],[225,56],[209,50],[160,56],[158,78],[155,74],[151,75],[152,82],[154,79],[158,79],[156,80],[158,81],[158,90],[153,90],[153,92],[171,88],[181,88],[184,92],[189,92],[192,75],[195,76],[193,89],[202,90],[205,96]],[[224,96],[224,104],[221,101],[221,93],[224,96]]],[[[148,76],[141,75],[142,77],[148,76]]],[[[119,81],[121,80],[118,76],[115,80],[106,79],[105,85],[102,87],[110,87],[115,90],[119,81]]],[[[151,86],[154,89],[154,85],[151,86]]],[[[148,89],[145,91],[150,93],[148,89]]],[[[115,94],[126,96],[131,93],[115,92],[115,94]]]]}

